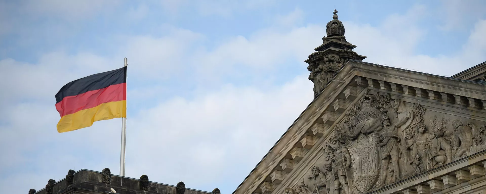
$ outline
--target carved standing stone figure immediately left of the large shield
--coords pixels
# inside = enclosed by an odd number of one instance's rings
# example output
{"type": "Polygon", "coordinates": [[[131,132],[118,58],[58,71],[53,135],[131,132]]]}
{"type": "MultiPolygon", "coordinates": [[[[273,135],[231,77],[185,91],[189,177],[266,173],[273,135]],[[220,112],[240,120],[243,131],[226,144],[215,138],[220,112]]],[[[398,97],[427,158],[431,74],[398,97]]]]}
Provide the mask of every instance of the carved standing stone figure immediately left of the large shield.
{"type": "Polygon", "coordinates": [[[334,180],[334,193],[339,194],[339,190],[341,189],[340,186],[343,187],[343,190],[346,194],[350,194],[349,185],[346,180],[346,171],[349,169],[351,165],[351,155],[347,150],[347,147],[344,146],[345,144],[345,135],[341,132],[340,129],[335,129],[335,133],[332,139],[332,143],[329,146],[334,149],[334,160],[333,165],[336,168],[336,172],[334,176],[337,177],[334,180]]]}

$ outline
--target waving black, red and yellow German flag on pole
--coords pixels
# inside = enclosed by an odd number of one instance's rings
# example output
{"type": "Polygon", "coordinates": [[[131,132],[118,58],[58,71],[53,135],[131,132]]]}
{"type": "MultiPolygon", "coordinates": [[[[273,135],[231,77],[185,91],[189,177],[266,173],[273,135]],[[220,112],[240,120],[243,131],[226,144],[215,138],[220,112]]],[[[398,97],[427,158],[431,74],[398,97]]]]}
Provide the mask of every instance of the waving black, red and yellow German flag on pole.
{"type": "Polygon", "coordinates": [[[57,132],[126,117],[126,66],[71,81],[56,94],[57,132]]]}

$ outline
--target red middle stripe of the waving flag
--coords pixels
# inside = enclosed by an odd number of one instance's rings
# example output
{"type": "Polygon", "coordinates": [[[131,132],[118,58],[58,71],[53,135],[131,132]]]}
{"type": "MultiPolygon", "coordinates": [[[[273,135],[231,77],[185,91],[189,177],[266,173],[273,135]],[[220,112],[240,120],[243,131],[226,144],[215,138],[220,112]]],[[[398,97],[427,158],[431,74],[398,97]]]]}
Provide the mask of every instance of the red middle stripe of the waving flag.
{"type": "Polygon", "coordinates": [[[110,85],[108,87],[87,91],[76,96],[64,97],[56,104],[57,112],[64,115],[90,109],[106,102],[126,100],[126,83],[110,85]]]}

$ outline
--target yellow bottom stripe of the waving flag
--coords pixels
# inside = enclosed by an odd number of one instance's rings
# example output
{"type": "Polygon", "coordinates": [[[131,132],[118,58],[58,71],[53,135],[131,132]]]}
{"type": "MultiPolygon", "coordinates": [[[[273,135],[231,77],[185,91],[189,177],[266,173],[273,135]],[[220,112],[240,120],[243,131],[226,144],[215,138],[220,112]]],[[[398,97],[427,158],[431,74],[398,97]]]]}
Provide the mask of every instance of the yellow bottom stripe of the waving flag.
{"type": "Polygon", "coordinates": [[[126,117],[126,100],[106,102],[96,107],[61,117],[57,132],[68,132],[90,127],[95,121],[126,117]]]}

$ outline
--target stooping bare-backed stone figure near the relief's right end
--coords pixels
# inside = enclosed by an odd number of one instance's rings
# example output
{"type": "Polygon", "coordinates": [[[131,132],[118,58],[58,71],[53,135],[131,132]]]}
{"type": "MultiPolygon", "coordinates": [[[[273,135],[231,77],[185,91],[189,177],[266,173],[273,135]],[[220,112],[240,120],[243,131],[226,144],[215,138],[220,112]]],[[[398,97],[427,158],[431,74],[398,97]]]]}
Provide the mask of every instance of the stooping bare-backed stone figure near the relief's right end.
{"type": "Polygon", "coordinates": [[[472,146],[472,128],[470,125],[464,126],[458,119],[452,121],[454,127],[454,146],[458,148],[455,158],[461,158],[472,146]]]}

